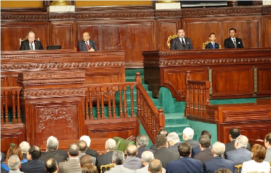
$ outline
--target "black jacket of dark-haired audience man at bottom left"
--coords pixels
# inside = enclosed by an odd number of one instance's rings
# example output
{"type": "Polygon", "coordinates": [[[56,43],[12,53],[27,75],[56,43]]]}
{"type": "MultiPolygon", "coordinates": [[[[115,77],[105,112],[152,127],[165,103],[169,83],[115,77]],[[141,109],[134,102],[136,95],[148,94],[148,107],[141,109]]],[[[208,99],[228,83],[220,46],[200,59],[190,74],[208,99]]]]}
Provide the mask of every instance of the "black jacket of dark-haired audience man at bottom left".
{"type": "Polygon", "coordinates": [[[45,170],[45,163],[43,160],[30,160],[26,163],[21,164],[20,170],[27,173],[47,173],[45,170]]]}

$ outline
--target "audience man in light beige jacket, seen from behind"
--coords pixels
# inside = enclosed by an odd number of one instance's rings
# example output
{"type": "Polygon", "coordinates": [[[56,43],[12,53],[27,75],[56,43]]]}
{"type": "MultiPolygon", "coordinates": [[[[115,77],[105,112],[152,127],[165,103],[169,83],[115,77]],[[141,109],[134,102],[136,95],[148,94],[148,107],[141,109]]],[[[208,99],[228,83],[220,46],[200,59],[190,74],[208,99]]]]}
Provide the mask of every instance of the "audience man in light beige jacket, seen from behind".
{"type": "Polygon", "coordinates": [[[68,148],[69,161],[58,163],[58,172],[74,173],[82,171],[78,155],[80,154],[79,146],[77,143],[72,143],[68,148]]]}

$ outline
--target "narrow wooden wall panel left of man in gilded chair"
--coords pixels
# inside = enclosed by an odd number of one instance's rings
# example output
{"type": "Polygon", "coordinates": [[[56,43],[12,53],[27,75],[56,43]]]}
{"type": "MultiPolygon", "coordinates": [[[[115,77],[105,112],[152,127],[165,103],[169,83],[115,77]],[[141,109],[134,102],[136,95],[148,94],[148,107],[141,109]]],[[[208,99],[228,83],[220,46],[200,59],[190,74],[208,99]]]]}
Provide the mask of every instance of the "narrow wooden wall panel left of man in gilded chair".
{"type": "Polygon", "coordinates": [[[169,50],[168,37],[177,34],[181,26],[181,19],[157,19],[157,48],[155,50],[169,50]]]}

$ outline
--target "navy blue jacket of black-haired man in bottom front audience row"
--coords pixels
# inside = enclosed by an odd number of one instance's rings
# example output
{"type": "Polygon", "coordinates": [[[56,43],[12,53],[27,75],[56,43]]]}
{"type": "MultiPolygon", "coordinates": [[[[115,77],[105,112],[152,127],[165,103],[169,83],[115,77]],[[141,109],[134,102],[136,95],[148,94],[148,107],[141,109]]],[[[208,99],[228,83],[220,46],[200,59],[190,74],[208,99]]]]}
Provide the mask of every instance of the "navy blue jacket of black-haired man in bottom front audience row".
{"type": "Polygon", "coordinates": [[[171,161],[167,165],[167,173],[203,173],[201,162],[190,157],[181,157],[179,160],[171,161]]]}

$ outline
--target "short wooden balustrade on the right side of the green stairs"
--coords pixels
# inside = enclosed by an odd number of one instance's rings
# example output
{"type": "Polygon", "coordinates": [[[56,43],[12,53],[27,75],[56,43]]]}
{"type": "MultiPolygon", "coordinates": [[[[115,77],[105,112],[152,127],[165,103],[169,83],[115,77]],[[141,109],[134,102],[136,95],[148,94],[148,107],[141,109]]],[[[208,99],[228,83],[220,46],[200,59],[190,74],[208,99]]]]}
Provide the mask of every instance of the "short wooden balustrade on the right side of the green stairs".
{"type": "Polygon", "coordinates": [[[185,116],[206,116],[206,105],[211,105],[210,99],[210,81],[190,80],[190,71],[185,72],[186,97],[185,97],[185,116]]]}

